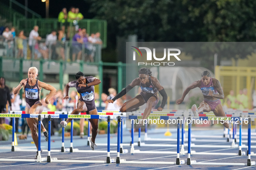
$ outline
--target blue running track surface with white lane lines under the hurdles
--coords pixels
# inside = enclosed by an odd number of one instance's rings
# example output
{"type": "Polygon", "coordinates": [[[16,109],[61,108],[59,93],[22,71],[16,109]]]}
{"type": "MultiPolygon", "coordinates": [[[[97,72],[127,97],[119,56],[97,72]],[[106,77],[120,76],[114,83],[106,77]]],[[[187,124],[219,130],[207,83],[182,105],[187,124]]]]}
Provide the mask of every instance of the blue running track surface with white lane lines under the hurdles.
{"type": "MultiPolygon", "coordinates": [[[[177,137],[176,129],[171,129],[172,136],[164,136],[166,129],[152,129],[148,131],[148,137],[150,138],[173,138],[177,137]]],[[[247,132],[244,129],[243,132],[247,132]]],[[[252,130],[255,132],[255,130],[252,130]]],[[[222,135],[222,129],[215,130],[192,130],[194,135],[222,135]]],[[[187,137],[186,133],[186,137],[187,137]]],[[[142,142],[144,142],[144,132],[142,132],[142,142]]],[[[197,145],[231,145],[231,142],[214,142],[213,138],[209,138],[212,142],[193,142],[197,145]]],[[[224,138],[218,138],[224,139],[224,138]]],[[[52,136],[51,149],[61,149],[61,136],[52,136]]],[[[252,139],[254,140],[254,139],[252,139]]],[[[134,142],[138,141],[138,132],[135,132],[134,142]]],[[[24,149],[36,149],[34,144],[31,144],[32,138],[28,137],[26,141],[18,139],[18,146],[24,149]]],[[[117,143],[117,135],[112,134],[111,143],[117,143]]],[[[107,135],[97,135],[96,144],[107,143],[107,135]]],[[[123,143],[130,143],[130,132],[124,129],[123,132],[123,143]]],[[[166,141],[146,141],[146,144],[176,144],[177,142],[166,142],[166,141]]],[[[185,142],[186,143],[186,142],[185,142]]],[[[236,143],[238,144],[238,143],[236,143]]],[[[247,144],[247,143],[243,143],[247,144]]],[[[252,143],[252,146],[256,143],[252,143]]],[[[48,143],[42,138],[42,157],[47,157],[47,146],[48,143]]],[[[70,138],[65,138],[65,148],[69,148],[70,138]]],[[[79,150],[90,150],[87,146],[87,138],[80,139],[75,136],[73,139],[73,147],[79,150]]],[[[124,149],[128,149],[129,153],[120,154],[121,159],[126,159],[126,161],[165,161],[165,162],[175,162],[176,154],[130,154],[130,146],[124,146],[124,149]]],[[[135,149],[140,151],[176,151],[176,147],[138,147],[135,149]]],[[[191,148],[196,152],[218,152],[218,153],[238,153],[238,148],[191,148]]],[[[96,150],[107,150],[107,146],[98,146],[96,150]]],[[[110,150],[117,151],[116,146],[110,146],[110,150]]],[[[185,147],[185,150],[187,148],[185,147]]],[[[246,151],[246,148],[242,148],[242,151],[246,151]]],[[[252,148],[251,151],[256,153],[256,148],[252,148]]],[[[0,142],[0,158],[14,158],[14,159],[33,159],[36,152],[20,152],[11,151],[11,139],[8,142],[0,142]]],[[[57,157],[58,160],[101,160],[106,161],[107,154],[105,153],[56,153],[51,152],[52,157],[57,157]]],[[[116,158],[117,154],[110,154],[111,158],[116,158]]],[[[187,154],[180,155],[181,160],[187,162],[187,154]]],[[[256,161],[256,156],[251,156],[252,161],[256,161]]],[[[220,162],[220,163],[246,163],[247,156],[223,156],[223,155],[191,155],[191,160],[196,160],[197,162],[220,162]]],[[[256,169],[255,166],[213,166],[213,165],[159,165],[159,164],[82,164],[82,163],[31,163],[31,162],[0,162],[1,170],[12,170],[12,169],[26,169],[26,170],[65,170],[65,169],[92,169],[92,170],[103,170],[103,169],[122,169],[122,170],[149,170],[149,169],[256,169]]]]}

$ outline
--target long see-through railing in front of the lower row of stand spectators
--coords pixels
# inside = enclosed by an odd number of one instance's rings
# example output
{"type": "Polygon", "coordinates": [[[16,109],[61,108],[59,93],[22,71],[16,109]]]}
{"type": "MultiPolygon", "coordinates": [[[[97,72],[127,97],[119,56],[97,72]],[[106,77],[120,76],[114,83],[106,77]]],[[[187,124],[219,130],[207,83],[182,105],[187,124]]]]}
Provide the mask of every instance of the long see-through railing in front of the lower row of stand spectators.
{"type": "MultiPolygon", "coordinates": [[[[18,34],[16,34],[18,35],[18,34]]],[[[40,41],[0,36],[0,56],[32,60],[101,61],[101,45],[77,41],[40,41]]]]}

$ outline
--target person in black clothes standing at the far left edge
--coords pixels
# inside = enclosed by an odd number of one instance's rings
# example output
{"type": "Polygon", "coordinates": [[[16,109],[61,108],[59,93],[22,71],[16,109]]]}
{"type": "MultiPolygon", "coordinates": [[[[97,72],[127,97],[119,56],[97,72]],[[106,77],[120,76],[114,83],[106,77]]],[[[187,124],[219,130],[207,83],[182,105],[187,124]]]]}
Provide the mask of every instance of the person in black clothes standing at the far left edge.
{"type": "MultiPolygon", "coordinates": [[[[10,97],[10,90],[9,88],[5,85],[5,78],[1,77],[0,78],[0,113],[7,113],[7,101],[10,105],[10,108],[12,110],[12,102],[11,102],[11,97],[10,97]]],[[[0,117],[0,124],[5,123],[5,118],[0,117]]]]}

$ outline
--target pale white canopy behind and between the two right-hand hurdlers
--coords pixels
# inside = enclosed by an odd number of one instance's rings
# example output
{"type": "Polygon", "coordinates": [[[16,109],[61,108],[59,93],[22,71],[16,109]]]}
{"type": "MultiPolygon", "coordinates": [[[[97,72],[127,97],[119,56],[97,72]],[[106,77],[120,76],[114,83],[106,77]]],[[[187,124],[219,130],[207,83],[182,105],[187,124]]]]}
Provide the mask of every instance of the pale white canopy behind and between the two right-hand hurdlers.
{"type": "MultiPolygon", "coordinates": [[[[157,67],[151,67],[152,76],[158,77],[157,67]]],[[[159,82],[165,88],[167,95],[170,97],[170,101],[176,101],[181,98],[183,91],[192,82],[201,79],[201,73],[205,70],[211,73],[211,77],[214,74],[204,67],[174,67],[174,66],[160,66],[159,67],[159,82]]],[[[191,90],[191,93],[199,93],[200,89],[191,90]]],[[[185,101],[188,97],[185,98],[185,101]]]]}

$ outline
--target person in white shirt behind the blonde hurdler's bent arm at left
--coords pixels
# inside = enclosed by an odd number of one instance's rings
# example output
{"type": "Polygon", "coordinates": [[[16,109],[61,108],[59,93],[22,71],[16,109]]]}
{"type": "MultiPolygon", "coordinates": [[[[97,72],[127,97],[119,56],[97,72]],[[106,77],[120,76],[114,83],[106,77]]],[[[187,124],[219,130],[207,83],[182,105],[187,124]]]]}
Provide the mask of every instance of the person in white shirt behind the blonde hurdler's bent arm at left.
{"type": "MultiPolygon", "coordinates": [[[[14,90],[15,88],[13,88],[14,90]]],[[[21,99],[19,94],[13,94],[13,90],[11,93],[11,102],[12,102],[12,110],[20,110],[21,99]]],[[[10,125],[13,126],[13,119],[10,121],[10,125]]],[[[19,132],[19,118],[15,118],[15,130],[19,132]]]]}

